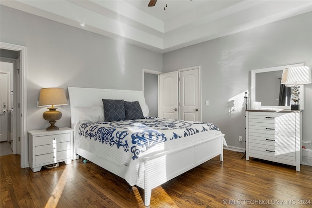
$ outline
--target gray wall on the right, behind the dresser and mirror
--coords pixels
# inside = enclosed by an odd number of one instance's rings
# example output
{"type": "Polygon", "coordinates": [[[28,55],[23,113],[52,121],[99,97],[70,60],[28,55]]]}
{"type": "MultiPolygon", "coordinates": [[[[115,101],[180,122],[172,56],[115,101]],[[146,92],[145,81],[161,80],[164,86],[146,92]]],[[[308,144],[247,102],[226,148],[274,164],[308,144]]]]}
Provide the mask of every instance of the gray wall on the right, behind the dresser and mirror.
{"type": "MultiPolygon", "coordinates": [[[[251,73],[287,64],[312,67],[312,12],[163,55],[163,72],[202,66],[202,120],[215,123],[229,146],[245,147],[244,92],[251,73]],[[209,105],[205,105],[209,100],[209,105]]],[[[312,140],[312,84],[305,85],[303,140],[312,140]]]]}

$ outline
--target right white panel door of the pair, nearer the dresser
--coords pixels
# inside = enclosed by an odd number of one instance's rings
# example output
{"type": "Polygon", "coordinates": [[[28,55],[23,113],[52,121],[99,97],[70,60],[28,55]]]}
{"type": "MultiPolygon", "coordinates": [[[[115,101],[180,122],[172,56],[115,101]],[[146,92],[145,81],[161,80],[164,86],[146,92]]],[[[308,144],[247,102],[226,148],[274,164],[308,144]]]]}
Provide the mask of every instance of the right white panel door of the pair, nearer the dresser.
{"type": "Polygon", "coordinates": [[[199,68],[180,71],[180,119],[200,120],[199,68]]]}

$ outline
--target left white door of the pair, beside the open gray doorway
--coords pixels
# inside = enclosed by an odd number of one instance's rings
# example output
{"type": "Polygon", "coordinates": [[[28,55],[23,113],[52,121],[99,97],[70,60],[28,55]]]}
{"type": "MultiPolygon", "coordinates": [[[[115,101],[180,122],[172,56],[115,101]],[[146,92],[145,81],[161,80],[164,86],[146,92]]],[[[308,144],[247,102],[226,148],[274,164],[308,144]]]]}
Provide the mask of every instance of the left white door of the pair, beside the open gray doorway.
{"type": "Polygon", "coordinates": [[[159,76],[159,117],[178,119],[178,72],[159,76]]]}

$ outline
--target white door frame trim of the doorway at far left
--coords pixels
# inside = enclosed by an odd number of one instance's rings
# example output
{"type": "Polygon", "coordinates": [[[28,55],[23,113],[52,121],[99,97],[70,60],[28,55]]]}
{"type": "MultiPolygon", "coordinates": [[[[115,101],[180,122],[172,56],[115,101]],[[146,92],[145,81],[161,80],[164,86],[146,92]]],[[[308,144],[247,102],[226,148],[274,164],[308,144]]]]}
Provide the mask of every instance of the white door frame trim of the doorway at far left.
{"type": "MultiPolygon", "coordinates": [[[[27,140],[27,63],[25,46],[0,42],[0,49],[20,52],[20,167],[28,168],[28,140],[27,140]]],[[[16,120],[19,117],[15,114],[16,120]]]]}

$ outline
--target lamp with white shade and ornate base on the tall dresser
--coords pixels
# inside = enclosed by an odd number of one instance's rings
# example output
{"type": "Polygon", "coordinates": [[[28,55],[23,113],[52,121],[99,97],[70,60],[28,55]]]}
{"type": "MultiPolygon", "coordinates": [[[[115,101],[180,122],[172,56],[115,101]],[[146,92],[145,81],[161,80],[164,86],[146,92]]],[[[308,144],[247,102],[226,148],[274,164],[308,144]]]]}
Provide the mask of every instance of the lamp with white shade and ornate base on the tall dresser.
{"type": "Polygon", "coordinates": [[[299,88],[301,84],[310,84],[311,68],[308,66],[293,66],[283,70],[281,84],[292,87],[292,101],[291,110],[299,110],[299,88]]]}

